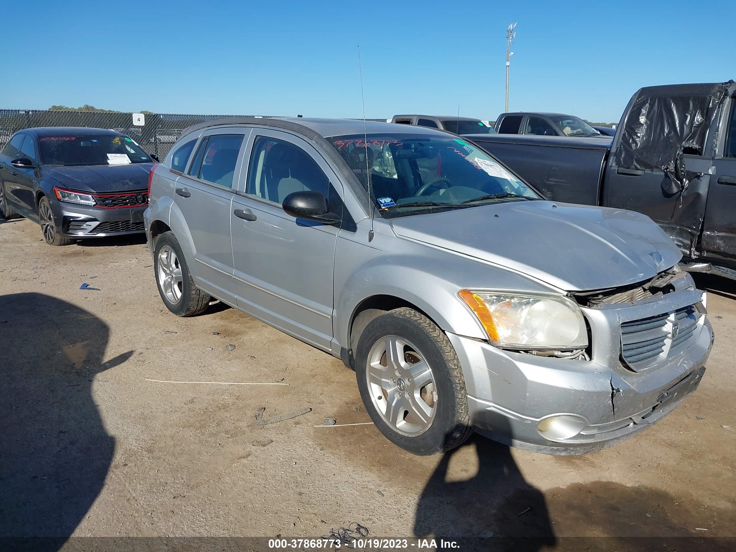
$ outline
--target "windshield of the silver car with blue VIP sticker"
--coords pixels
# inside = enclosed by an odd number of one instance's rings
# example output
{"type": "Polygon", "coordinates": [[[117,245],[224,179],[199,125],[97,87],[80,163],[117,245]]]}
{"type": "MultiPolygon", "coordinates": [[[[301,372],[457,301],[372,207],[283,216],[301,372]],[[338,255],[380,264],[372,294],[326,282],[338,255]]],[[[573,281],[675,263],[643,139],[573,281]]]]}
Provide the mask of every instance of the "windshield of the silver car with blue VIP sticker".
{"type": "Polygon", "coordinates": [[[356,134],[328,140],[364,188],[370,179],[382,216],[540,199],[497,160],[451,135],[356,134]]]}

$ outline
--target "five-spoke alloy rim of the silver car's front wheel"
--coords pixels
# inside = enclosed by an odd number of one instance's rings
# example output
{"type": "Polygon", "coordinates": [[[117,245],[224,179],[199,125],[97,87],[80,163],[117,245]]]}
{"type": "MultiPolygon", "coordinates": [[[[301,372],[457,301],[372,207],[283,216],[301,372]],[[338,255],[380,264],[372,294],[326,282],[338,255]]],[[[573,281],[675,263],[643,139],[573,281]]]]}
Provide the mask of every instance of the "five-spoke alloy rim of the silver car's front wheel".
{"type": "Polygon", "coordinates": [[[368,353],[370,397],[394,431],[417,436],[427,431],[437,409],[434,373],[424,355],[407,339],[386,336],[368,353]]]}

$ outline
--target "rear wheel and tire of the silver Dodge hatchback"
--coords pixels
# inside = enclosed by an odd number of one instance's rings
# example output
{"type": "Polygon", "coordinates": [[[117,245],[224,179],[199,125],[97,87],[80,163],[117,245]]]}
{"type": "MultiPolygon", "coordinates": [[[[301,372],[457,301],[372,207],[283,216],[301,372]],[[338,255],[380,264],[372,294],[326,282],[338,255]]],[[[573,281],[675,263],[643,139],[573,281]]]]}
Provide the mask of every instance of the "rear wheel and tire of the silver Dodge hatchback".
{"type": "Polygon", "coordinates": [[[156,238],[153,267],[158,293],[169,311],[177,316],[196,316],[207,310],[211,297],[194,284],[179,240],[171,230],[156,238]]]}

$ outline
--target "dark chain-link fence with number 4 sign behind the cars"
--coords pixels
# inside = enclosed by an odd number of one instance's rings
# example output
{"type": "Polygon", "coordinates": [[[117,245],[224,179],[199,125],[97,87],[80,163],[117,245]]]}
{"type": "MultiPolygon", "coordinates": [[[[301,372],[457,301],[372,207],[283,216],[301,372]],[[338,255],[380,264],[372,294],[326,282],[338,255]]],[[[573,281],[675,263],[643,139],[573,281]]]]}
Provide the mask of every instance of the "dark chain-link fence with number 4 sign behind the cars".
{"type": "MultiPolygon", "coordinates": [[[[130,136],[147,152],[163,159],[185,128],[230,117],[254,116],[0,109],[0,148],[15,132],[24,128],[91,127],[117,130],[130,136]]],[[[368,120],[386,121],[385,118],[368,120]]]]}

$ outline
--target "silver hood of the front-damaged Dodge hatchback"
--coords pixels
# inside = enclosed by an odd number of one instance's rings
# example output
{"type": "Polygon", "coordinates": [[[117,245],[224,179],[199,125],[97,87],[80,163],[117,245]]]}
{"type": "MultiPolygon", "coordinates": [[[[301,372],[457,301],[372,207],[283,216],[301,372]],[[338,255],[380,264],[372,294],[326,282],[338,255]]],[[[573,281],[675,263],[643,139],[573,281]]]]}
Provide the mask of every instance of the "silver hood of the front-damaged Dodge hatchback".
{"type": "Polygon", "coordinates": [[[682,258],[657,224],[629,210],[514,201],[406,216],[391,224],[402,238],[470,255],[565,291],[637,283],[682,258]]]}

